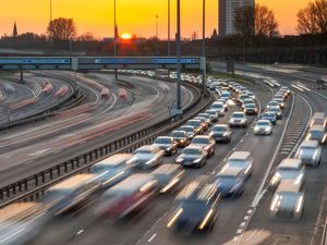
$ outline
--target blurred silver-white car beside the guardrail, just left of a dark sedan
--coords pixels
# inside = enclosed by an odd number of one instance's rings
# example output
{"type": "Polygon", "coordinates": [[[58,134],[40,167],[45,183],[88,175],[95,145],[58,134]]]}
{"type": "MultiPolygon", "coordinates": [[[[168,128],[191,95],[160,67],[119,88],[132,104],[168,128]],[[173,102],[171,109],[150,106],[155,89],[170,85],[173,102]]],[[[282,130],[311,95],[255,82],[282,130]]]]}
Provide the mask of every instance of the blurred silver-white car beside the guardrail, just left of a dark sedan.
{"type": "Polygon", "coordinates": [[[144,145],[134,150],[133,157],[128,161],[140,169],[150,169],[162,163],[165,150],[153,145],[144,145]]]}

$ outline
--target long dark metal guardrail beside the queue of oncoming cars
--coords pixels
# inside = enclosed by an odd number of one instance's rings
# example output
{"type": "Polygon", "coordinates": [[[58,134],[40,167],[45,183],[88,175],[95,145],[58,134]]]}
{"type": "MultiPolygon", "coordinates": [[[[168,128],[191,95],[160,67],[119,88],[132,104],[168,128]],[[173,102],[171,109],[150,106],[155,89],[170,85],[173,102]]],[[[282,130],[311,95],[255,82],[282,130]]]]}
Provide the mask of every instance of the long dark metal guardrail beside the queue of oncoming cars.
{"type": "Polygon", "coordinates": [[[158,136],[169,133],[171,130],[207,108],[214,98],[209,91],[206,93],[208,98],[206,103],[194,110],[194,106],[201,101],[201,93],[198,90],[198,98],[185,108],[184,113],[192,110],[194,111],[178,122],[171,123],[172,118],[168,118],[155,125],[75,156],[62,163],[0,188],[0,208],[15,201],[35,200],[39,198],[49,186],[70,175],[88,171],[92,164],[108,156],[118,152],[132,152],[144,144],[152,144],[158,136]]]}

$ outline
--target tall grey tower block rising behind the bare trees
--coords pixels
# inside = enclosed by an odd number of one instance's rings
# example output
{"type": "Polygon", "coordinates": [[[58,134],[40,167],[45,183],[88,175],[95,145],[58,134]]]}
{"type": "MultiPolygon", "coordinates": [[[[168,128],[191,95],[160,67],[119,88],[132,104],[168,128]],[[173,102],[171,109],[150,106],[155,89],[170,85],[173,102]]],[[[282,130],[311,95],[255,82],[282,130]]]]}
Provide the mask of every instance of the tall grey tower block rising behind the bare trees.
{"type": "Polygon", "coordinates": [[[234,29],[234,12],[244,5],[254,5],[255,0],[218,0],[218,28],[219,36],[237,34],[234,29]]]}

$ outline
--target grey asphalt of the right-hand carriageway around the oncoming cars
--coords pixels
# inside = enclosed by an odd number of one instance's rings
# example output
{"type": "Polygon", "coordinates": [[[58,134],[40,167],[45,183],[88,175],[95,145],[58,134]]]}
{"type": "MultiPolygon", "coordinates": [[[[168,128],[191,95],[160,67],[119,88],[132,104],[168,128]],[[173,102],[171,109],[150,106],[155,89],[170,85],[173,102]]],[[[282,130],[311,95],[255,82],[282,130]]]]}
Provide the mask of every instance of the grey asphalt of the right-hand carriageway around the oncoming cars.
{"type": "MultiPolygon", "coordinates": [[[[245,71],[246,66],[242,69],[245,71]]],[[[168,231],[167,213],[173,201],[171,195],[159,196],[141,216],[124,221],[94,219],[90,203],[71,216],[52,220],[31,244],[320,244],[326,218],[326,149],[322,164],[307,171],[305,207],[300,222],[269,220],[271,193],[266,192],[266,180],[282,158],[293,154],[312,113],[327,112],[327,93],[315,90],[303,72],[294,74],[259,70],[257,73],[275,77],[278,83],[287,86],[294,83],[293,75],[296,75],[296,83],[308,90],[292,88],[293,96],[287,102],[283,119],[275,126],[271,136],[254,136],[251,126],[235,128],[231,143],[218,145],[215,157],[204,168],[187,170],[187,179],[191,180],[202,173],[219,171],[226,157],[234,150],[250,150],[253,155],[254,172],[245,192],[239,199],[221,203],[219,217],[210,233],[182,236],[168,231]]],[[[257,85],[249,85],[249,88],[256,95],[261,108],[264,108],[275,88],[262,81],[257,78],[257,85]]],[[[232,107],[221,122],[226,122],[233,110],[237,108],[232,107]]],[[[253,123],[256,118],[250,120],[253,123]]],[[[166,158],[165,162],[174,162],[174,158],[166,158]]]]}

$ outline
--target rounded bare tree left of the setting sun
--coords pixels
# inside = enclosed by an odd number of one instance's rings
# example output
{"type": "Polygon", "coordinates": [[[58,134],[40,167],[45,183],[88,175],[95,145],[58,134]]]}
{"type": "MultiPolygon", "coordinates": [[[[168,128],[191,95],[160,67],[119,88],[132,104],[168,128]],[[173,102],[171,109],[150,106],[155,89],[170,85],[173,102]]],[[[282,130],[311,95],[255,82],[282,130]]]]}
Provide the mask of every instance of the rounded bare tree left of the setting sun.
{"type": "Polygon", "coordinates": [[[47,28],[53,39],[70,40],[76,37],[77,30],[73,19],[59,17],[49,23],[47,28]]]}

